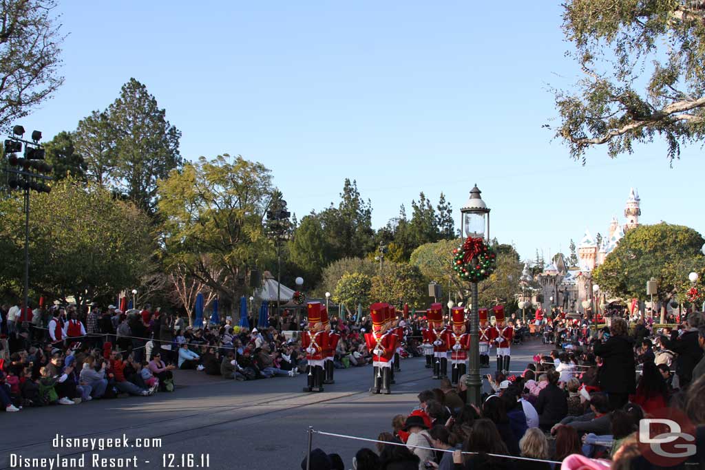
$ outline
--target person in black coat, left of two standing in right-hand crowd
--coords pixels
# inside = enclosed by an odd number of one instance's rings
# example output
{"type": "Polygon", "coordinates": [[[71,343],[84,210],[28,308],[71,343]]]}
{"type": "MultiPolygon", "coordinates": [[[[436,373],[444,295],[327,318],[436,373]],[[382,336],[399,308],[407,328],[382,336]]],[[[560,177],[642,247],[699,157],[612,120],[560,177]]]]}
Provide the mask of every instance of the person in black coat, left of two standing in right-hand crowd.
{"type": "MultiPolygon", "coordinates": [[[[630,338],[629,326],[624,319],[613,318],[610,334],[606,342],[598,342],[594,347],[596,356],[602,359],[597,372],[600,390],[607,393],[611,409],[623,407],[629,395],[636,392],[637,364],[634,359],[634,342],[630,338]]],[[[598,334],[603,340],[604,333],[598,334]]]]}

